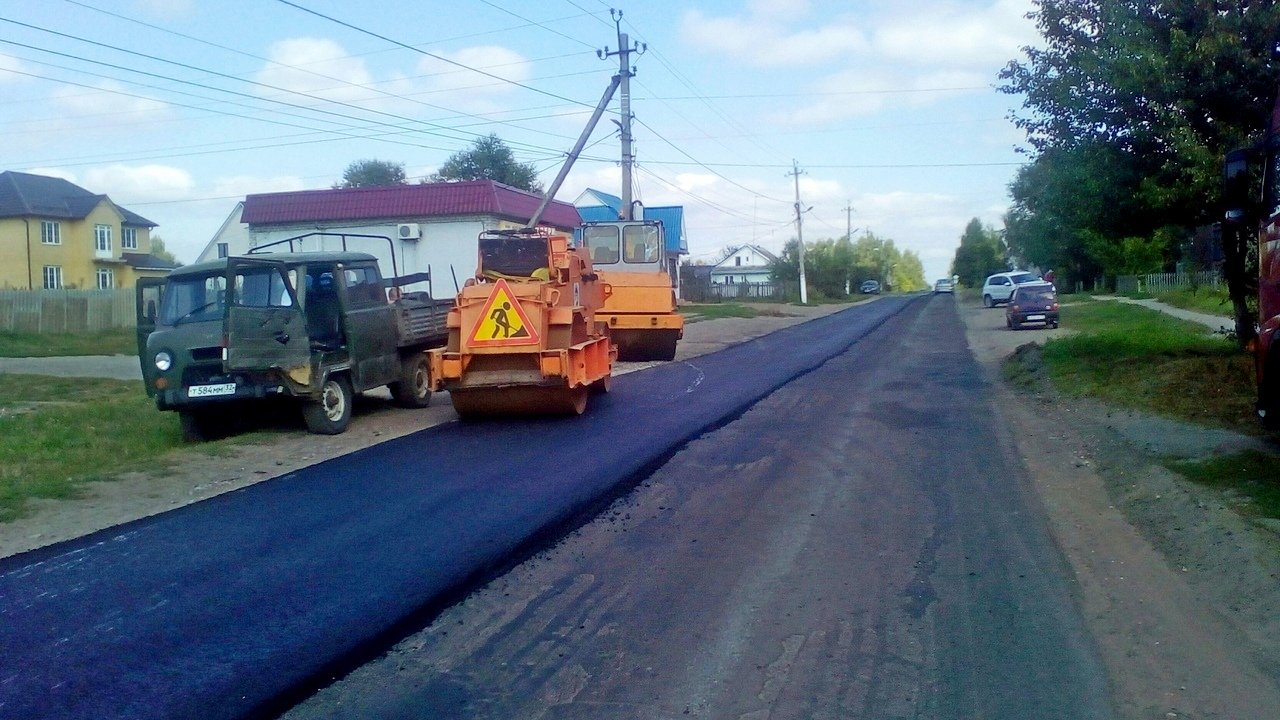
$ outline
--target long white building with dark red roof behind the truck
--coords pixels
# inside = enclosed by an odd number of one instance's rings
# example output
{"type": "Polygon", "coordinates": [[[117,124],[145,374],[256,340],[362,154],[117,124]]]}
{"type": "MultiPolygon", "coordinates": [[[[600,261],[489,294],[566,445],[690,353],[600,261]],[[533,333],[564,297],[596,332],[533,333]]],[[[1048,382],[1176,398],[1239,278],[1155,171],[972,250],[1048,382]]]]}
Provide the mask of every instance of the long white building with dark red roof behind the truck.
{"type": "MultiPolygon", "coordinates": [[[[352,237],[347,250],[376,255],[387,275],[393,269],[401,275],[430,272],[435,293],[447,296],[457,292],[454,278],[461,286],[475,272],[480,233],[524,227],[541,200],[489,179],[250,195],[233,213],[239,218],[228,218],[200,259],[243,255],[314,232],[385,236],[389,246],[352,237]]],[[[540,222],[564,234],[581,224],[577,209],[559,201],[548,205],[540,222]]],[[[340,237],[317,236],[294,250],[342,247],[340,237]]]]}

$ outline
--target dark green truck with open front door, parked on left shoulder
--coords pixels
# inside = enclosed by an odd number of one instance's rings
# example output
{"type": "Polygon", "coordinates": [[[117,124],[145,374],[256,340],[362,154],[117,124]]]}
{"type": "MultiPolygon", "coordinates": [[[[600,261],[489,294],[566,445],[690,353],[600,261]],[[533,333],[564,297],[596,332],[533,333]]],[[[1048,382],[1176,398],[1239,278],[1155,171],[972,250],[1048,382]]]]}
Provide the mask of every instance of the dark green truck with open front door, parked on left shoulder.
{"type": "Polygon", "coordinates": [[[225,258],[140,281],[147,395],[178,413],[188,441],[225,434],[269,398],[292,398],[323,434],[346,430],[355,393],[380,386],[425,407],[424,351],[444,343],[453,299],[401,290],[415,283],[430,288],[426,273],[388,281],[374,255],[349,251],[225,258]]]}

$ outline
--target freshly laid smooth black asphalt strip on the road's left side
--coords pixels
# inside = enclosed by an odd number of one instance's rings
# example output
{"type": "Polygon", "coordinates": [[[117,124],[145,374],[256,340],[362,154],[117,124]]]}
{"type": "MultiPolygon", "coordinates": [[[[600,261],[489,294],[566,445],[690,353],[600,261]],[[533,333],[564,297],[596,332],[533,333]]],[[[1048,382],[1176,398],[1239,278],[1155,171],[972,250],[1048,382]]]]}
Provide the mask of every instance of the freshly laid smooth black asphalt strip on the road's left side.
{"type": "Polygon", "coordinates": [[[0,560],[0,717],[276,712],[913,301],[614,378],[577,419],[451,423],[0,560]]]}

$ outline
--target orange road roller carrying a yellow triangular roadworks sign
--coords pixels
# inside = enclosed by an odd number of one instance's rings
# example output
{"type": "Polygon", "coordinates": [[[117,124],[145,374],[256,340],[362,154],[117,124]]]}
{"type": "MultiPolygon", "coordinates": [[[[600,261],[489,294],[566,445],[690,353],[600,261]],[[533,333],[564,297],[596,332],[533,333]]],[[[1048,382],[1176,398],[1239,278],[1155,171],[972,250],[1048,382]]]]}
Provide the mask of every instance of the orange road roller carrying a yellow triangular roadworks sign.
{"type": "Polygon", "coordinates": [[[608,392],[617,350],[596,313],[609,287],[582,249],[545,228],[486,231],[476,274],[429,352],[433,389],[465,420],[580,415],[608,392]]]}

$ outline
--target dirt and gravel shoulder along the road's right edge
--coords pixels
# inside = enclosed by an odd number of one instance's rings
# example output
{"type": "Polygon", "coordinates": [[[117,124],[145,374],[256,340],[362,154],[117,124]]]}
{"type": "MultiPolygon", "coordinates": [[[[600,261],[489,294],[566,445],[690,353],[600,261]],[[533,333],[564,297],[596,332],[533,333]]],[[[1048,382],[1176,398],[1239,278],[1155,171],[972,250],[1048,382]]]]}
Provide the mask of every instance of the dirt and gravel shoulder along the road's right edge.
{"type": "Polygon", "coordinates": [[[1120,716],[1280,717],[1280,538],[1157,461],[1258,441],[1015,391],[1000,364],[1070,332],[1070,307],[1057,331],[1007,331],[1002,313],[977,305],[960,314],[998,411],[1018,428],[1120,716]]]}

